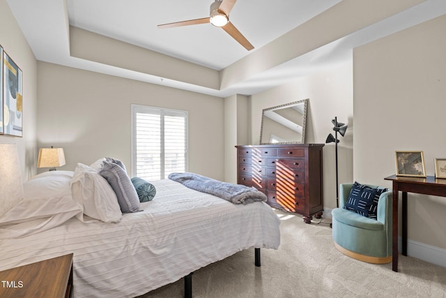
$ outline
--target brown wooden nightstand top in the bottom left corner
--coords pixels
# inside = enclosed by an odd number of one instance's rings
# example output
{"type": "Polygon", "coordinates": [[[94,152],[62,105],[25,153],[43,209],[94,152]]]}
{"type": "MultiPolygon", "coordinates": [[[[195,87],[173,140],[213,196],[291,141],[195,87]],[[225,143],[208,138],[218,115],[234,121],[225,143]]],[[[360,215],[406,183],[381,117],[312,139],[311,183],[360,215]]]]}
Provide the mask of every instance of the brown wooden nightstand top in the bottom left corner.
{"type": "Polygon", "coordinates": [[[72,253],[0,271],[0,297],[72,297],[72,253]]]}

